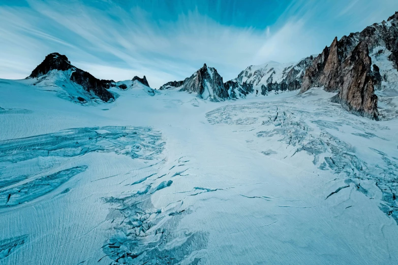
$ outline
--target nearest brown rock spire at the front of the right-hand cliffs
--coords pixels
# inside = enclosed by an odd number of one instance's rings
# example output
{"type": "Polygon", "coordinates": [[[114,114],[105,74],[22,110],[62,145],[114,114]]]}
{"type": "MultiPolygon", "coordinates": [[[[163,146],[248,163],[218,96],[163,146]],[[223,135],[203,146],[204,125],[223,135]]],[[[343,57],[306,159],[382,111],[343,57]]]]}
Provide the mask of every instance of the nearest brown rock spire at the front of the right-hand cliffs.
{"type": "Polygon", "coordinates": [[[371,65],[368,45],[360,42],[341,65],[339,93],[333,97],[333,101],[341,103],[353,113],[377,120],[375,84],[378,81],[371,71],[371,65]]]}

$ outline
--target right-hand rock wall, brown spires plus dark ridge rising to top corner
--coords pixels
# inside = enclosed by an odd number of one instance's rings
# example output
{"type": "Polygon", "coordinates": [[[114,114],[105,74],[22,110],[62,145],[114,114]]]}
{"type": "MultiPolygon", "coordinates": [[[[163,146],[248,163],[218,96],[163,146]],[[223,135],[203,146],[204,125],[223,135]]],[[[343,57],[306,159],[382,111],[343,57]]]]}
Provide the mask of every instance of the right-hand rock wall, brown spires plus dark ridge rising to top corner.
{"type": "Polygon", "coordinates": [[[369,57],[369,51],[377,47],[391,52],[388,59],[398,68],[398,12],[387,22],[375,23],[339,41],[335,38],[305,71],[300,93],[323,86],[326,91],[338,91],[335,101],[349,111],[378,119],[374,90],[380,89],[382,77],[369,57]]]}

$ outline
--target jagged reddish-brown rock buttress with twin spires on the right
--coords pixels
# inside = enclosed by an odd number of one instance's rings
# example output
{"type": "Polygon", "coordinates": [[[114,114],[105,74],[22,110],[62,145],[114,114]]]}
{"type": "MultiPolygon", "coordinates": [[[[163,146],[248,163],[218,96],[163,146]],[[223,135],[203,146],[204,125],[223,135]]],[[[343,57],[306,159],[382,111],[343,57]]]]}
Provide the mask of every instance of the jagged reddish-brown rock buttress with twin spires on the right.
{"type": "MultiPolygon", "coordinates": [[[[351,35],[354,36],[354,35],[351,35]]],[[[334,102],[341,103],[347,110],[365,117],[378,119],[375,86],[381,83],[373,74],[368,45],[360,42],[354,50],[356,39],[334,38],[330,47],[325,47],[314,63],[305,71],[300,93],[311,87],[321,87],[328,92],[338,92],[334,102]],[[346,57],[346,54],[348,56],[346,57]]]]}

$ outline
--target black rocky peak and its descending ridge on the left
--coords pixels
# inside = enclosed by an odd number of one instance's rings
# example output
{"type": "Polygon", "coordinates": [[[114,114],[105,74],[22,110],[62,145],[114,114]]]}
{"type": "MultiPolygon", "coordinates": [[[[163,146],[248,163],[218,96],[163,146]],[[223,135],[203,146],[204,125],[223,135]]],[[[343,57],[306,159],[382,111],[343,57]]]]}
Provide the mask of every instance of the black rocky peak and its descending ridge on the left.
{"type": "Polygon", "coordinates": [[[79,84],[87,92],[92,92],[97,95],[102,101],[108,102],[114,99],[114,96],[107,90],[111,85],[112,80],[99,80],[88,72],[74,67],[65,55],[59,53],[51,53],[46,56],[44,61],[32,71],[29,77],[38,78],[46,75],[52,70],[57,71],[73,71],[70,77],[72,82],[79,84]]]}

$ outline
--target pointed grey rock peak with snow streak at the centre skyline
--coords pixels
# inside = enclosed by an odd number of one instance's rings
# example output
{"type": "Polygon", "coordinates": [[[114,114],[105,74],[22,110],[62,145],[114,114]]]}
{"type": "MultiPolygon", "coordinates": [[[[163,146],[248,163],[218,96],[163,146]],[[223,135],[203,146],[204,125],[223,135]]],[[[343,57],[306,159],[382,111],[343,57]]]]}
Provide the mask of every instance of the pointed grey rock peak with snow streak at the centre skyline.
{"type": "Polygon", "coordinates": [[[181,91],[197,93],[204,100],[209,98],[211,101],[222,101],[230,98],[228,89],[224,86],[223,78],[215,68],[207,67],[206,63],[191,77],[183,81],[168,82],[159,89],[168,88],[178,88],[181,91]]]}

